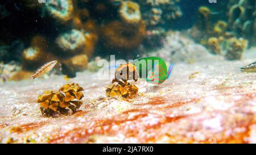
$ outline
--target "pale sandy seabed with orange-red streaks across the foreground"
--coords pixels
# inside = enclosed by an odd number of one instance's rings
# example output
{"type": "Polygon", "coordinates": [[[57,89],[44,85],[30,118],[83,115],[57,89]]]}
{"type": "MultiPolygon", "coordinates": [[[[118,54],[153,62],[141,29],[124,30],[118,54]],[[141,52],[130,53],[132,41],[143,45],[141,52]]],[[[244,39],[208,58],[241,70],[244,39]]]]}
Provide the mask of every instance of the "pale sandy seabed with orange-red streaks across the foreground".
{"type": "Polygon", "coordinates": [[[84,87],[80,111],[44,118],[36,99],[67,83],[63,76],[8,82],[0,87],[1,143],[256,143],[256,74],[240,72],[254,62],[205,60],[177,63],[160,86],[135,83],[132,100],[106,98],[111,80],[78,73],[84,87]]]}

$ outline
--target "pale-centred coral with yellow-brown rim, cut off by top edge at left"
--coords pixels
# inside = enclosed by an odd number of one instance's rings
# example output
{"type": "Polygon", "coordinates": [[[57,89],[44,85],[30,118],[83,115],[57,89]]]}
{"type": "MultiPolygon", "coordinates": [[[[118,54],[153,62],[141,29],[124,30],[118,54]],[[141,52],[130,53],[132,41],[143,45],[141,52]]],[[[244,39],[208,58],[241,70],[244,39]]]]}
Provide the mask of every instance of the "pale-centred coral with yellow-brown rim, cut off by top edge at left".
{"type": "Polygon", "coordinates": [[[53,18],[59,19],[60,22],[67,22],[73,16],[72,0],[46,1],[46,9],[53,18]]]}

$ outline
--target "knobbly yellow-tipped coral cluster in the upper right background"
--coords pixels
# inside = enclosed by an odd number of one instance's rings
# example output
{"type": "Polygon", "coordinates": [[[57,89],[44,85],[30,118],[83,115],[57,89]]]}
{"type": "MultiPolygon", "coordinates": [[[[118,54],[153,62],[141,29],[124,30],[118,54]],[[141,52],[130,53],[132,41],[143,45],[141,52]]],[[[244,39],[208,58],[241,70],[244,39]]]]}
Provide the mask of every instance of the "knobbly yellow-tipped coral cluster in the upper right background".
{"type": "Polygon", "coordinates": [[[239,60],[245,51],[248,41],[229,30],[229,23],[212,19],[213,12],[209,7],[199,8],[198,22],[191,30],[191,35],[205,45],[214,54],[223,55],[228,60],[239,60]]]}

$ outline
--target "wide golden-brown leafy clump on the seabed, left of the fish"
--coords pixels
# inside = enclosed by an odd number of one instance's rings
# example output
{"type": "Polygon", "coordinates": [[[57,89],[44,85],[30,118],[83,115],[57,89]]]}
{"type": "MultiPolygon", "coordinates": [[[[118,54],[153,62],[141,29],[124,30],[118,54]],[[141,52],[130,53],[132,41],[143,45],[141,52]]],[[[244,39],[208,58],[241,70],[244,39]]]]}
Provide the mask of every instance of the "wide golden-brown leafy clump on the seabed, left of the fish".
{"type": "Polygon", "coordinates": [[[44,91],[37,100],[42,114],[56,117],[75,113],[82,104],[82,90],[78,83],[71,82],[60,87],[59,91],[44,91]]]}

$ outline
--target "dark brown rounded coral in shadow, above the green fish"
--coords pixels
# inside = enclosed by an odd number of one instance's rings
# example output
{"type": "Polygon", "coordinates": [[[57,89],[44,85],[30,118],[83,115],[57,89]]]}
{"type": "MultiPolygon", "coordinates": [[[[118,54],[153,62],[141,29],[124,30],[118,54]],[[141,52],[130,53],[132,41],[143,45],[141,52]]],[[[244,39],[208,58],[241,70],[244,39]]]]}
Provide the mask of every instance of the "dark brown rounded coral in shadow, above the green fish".
{"type": "Polygon", "coordinates": [[[101,34],[107,48],[134,49],[144,39],[146,25],[143,21],[138,26],[133,26],[115,20],[104,26],[101,34]]]}

